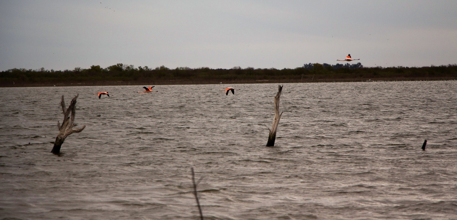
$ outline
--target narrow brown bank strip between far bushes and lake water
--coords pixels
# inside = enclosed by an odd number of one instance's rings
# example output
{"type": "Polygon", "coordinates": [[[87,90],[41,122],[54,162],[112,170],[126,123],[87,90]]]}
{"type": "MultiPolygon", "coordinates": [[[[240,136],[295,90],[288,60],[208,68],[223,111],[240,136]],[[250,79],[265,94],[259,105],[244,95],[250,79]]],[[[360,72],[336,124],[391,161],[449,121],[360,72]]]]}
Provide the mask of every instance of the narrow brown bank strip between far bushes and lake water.
{"type": "Polygon", "coordinates": [[[380,79],[271,79],[271,80],[148,80],[148,81],[85,81],[85,82],[2,82],[0,87],[61,87],[61,86],[116,86],[116,85],[198,85],[198,84],[282,84],[282,83],[349,83],[349,82],[402,82],[402,81],[454,81],[457,77],[443,78],[380,78],[380,79]]]}

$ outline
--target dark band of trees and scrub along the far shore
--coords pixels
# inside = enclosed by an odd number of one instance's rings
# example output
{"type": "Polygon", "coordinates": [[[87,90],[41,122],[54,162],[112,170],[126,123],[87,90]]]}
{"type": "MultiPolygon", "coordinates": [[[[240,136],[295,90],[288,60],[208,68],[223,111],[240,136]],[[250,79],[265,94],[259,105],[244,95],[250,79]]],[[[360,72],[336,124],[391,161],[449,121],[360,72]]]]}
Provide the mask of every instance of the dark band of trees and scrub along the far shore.
{"type": "Polygon", "coordinates": [[[80,85],[150,85],[219,83],[307,83],[393,80],[456,80],[457,64],[430,67],[363,67],[361,63],[308,63],[298,68],[213,69],[167,68],[117,63],[107,68],[93,65],[73,70],[14,68],[0,72],[1,87],[80,86],[80,85]]]}

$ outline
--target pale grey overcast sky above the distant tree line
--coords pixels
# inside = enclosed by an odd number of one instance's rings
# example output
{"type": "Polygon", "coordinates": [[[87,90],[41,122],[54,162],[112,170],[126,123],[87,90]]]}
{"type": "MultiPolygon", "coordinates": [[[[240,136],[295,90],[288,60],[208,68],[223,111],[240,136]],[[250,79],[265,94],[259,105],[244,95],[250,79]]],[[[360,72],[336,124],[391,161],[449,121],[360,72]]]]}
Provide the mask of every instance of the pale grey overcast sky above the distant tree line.
{"type": "Polygon", "coordinates": [[[0,0],[0,71],[296,68],[348,53],[367,67],[457,63],[457,1],[0,0]]]}

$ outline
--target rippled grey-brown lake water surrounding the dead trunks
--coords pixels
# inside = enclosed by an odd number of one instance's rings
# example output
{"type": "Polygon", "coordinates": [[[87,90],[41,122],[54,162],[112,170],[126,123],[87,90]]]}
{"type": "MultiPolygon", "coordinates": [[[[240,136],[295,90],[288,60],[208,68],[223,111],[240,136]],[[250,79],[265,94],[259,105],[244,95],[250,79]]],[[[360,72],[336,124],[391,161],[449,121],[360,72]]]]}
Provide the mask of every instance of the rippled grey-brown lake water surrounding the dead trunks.
{"type": "Polygon", "coordinates": [[[154,89],[0,88],[0,219],[197,219],[191,167],[205,219],[457,219],[457,81],[284,84],[275,147],[277,84],[154,89]]]}

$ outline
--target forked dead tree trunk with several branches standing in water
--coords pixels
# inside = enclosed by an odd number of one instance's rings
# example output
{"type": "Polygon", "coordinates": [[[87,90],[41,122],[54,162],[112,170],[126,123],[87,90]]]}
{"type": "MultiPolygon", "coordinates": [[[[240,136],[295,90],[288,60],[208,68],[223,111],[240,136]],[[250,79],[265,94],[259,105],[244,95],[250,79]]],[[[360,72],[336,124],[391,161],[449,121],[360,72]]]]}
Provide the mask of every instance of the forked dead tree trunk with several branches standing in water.
{"type": "Polygon", "coordinates": [[[64,96],[62,95],[62,101],[60,101],[60,105],[62,105],[62,111],[64,112],[64,121],[62,121],[62,126],[60,125],[60,122],[57,121],[57,127],[58,127],[58,135],[56,137],[56,141],[54,141],[54,147],[51,153],[53,154],[59,154],[60,153],[60,147],[65,141],[65,138],[67,136],[73,134],[73,133],[79,133],[83,131],[85,126],[83,126],[80,129],[72,129],[76,124],[74,124],[74,116],[76,115],[75,112],[75,106],[76,106],[76,99],[78,98],[79,94],[76,94],[74,98],[70,102],[70,106],[68,106],[68,109],[65,107],[65,101],[64,101],[64,96]],[[70,115],[71,113],[71,115],[70,115]]]}

